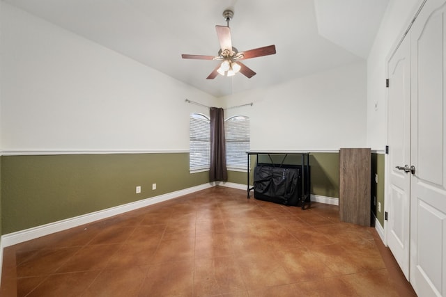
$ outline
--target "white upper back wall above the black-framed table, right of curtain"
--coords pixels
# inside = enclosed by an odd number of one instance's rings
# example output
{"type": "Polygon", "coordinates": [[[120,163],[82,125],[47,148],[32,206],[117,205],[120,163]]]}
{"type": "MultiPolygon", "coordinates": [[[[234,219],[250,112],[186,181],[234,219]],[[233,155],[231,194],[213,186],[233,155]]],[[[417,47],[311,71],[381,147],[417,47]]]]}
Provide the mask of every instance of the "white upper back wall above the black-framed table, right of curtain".
{"type": "Polygon", "coordinates": [[[339,150],[364,147],[367,127],[365,61],[220,98],[225,118],[248,115],[251,150],[339,150]]]}

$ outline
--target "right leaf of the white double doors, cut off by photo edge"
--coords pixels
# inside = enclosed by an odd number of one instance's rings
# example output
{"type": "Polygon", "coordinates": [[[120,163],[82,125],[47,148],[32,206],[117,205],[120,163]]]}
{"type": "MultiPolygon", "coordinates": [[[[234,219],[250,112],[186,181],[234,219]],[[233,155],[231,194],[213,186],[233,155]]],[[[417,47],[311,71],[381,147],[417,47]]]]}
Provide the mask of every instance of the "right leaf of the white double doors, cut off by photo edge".
{"type": "Polygon", "coordinates": [[[446,296],[446,0],[428,0],[411,29],[410,282],[446,296]]]}

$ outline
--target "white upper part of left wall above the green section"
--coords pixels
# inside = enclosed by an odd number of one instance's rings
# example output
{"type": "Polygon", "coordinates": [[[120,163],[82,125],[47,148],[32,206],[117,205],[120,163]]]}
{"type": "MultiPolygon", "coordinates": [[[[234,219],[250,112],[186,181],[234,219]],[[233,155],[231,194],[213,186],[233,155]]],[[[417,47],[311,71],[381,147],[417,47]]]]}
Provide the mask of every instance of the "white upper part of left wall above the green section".
{"type": "MultiPolygon", "coordinates": [[[[189,150],[189,115],[216,98],[1,6],[1,150],[189,150]]],[[[200,110],[208,113],[207,109],[200,110]]]]}

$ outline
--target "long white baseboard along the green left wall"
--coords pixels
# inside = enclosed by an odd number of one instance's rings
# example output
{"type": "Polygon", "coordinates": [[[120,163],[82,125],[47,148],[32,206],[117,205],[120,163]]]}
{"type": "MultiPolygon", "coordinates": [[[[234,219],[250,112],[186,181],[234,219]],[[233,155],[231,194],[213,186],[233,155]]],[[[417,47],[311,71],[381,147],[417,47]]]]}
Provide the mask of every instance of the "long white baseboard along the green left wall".
{"type": "MultiPolygon", "coordinates": [[[[187,194],[201,191],[201,190],[204,190],[206,188],[211,188],[211,187],[213,187],[213,184],[202,184],[200,186],[193,186],[192,188],[185,188],[180,191],[175,191],[172,193],[167,193],[167,194],[155,196],[152,198],[147,198],[144,200],[139,200],[139,201],[131,202],[128,204],[119,205],[117,207],[111,207],[109,209],[95,211],[90,214],[84,214],[82,216],[76,216],[74,218],[68,218],[66,220],[59,220],[54,223],[49,223],[46,225],[41,225],[41,226],[26,229],[26,230],[21,230],[21,231],[5,234],[5,235],[2,235],[1,239],[0,239],[1,252],[3,252],[3,248],[6,248],[8,246],[13,246],[17,243],[22,243],[24,241],[36,239],[38,237],[52,234],[55,232],[68,230],[72,227],[77,227],[80,225],[92,223],[95,220],[102,220],[104,218],[109,218],[111,216],[123,214],[127,211],[132,211],[135,209],[139,209],[141,207],[147,207],[149,205],[153,205],[153,204],[156,204],[159,202],[171,200],[171,199],[180,197],[182,195],[187,195],[187,194]]],[[[0,258],[0,261],[1,261],[1,259],[3,259],[3,258],[0,258]]]]}

